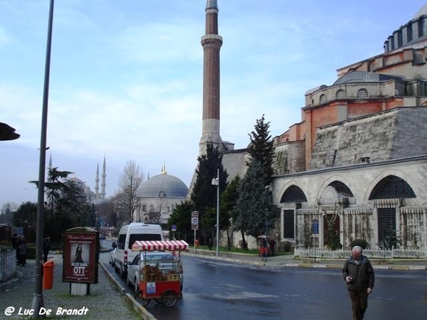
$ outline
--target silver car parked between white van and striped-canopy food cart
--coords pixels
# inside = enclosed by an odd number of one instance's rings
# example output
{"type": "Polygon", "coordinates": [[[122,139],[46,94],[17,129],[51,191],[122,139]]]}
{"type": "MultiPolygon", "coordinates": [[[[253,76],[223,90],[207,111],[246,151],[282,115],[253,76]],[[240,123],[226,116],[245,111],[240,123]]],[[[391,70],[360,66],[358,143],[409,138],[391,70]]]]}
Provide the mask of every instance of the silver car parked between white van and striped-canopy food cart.
{"type": "Polygon", "coordinates": [[[164,274],[167,274],[171,270],[181,273],[180,286],[182,291],[182,285],[184,283],[181,262],[176,260],[176,257],[170,252],[141,252],[138,253],[132,262],[127,264],[127,285],[129,287],[135,287],[135,292],[139,289],[139,277],[140,269],[144,265],[151,265],[159,267],[164,274]],[[142,260],[141,260],[142,259],[142,260]],[[144,262],[145,260],[145,262],[144,262]]]}

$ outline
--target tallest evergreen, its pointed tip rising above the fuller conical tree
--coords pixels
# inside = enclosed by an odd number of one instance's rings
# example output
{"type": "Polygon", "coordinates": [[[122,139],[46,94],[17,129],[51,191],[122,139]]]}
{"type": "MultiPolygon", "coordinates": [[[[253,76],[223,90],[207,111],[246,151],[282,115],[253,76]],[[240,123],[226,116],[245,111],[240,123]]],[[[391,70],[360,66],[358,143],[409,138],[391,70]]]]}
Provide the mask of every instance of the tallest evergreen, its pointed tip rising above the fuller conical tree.
{"type": "MultiPolygon", "coordinates": [[[[263,167],[263,183],[264,186],[269,186],[273,176],[273,158],[274,148],[273,140],[270,136],[270,122],[265,122],[264,114],[261,119],[256,120],[255,131],[248,134],[251,139],[251,144],[248,147],[249,159],[251,161],[258,160],[263,167]]],[[[250,162],[249,162],[250,163],[250,162]]],[[[249,165],[249,163],[246,163],[249,165]]]]}

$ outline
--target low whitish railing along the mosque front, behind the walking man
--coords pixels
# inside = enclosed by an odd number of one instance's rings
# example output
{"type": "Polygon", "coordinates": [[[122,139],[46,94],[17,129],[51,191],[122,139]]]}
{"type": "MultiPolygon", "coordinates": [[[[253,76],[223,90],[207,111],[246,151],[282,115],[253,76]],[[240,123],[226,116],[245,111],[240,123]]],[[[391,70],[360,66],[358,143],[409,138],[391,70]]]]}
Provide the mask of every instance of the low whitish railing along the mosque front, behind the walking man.
{"type": "MultiPolygon", "coordinates": [[[[424,249],[364,249],[363,254],[374,259],[427,259],[427,248],[424,249]]],[[[325,247],[295,248],[294,257],[316,257],[322,259],[347,259],[352,250],[330,250],[325,247]]]]}

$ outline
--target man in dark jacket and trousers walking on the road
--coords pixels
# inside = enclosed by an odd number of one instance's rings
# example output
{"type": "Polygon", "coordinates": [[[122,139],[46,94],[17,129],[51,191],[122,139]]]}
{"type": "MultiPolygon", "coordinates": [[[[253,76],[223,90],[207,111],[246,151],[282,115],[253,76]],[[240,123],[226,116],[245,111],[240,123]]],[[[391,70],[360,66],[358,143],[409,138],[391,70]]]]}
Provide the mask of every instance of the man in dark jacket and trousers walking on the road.
{"type": "Polygon", "coordinates": [[[353,247],[352,257],[342,267],[342,276],[352,300],[353,320],[363,319],[368,307],[368,296],[374,288],[374,268],[362,252],[362,247],[353,247]]]}

